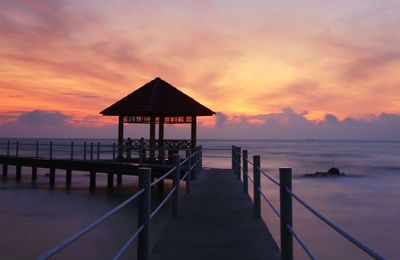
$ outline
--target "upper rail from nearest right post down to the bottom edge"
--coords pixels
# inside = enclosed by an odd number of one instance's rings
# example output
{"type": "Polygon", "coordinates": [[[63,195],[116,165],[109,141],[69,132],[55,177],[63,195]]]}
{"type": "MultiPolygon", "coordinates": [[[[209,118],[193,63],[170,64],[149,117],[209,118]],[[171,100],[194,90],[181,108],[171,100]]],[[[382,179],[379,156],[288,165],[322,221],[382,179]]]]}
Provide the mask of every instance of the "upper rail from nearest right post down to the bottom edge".
{"type": "Polygon", "coordinates": [[[303,207],[308,209],[311,213],[313,213],[317,218],[319,218],[321,221],[325,222],[328,226],[330,226],[333,230],[338,232],[340,235],[342,235],[344,238],[349,240],[351,243],[353,243],[355,246],[360,248],[362,251],[367,253],[368,255],[372,256],[375,259],[385,259],[381,254],[373,250],[372,248],[368,247],[366,244],[358,240],[356,237],[353,235],[350,235],[348,232],[346,232],[344,229],[324,217],[321,213],[316,211],[314,208],[312,208],[310,205],[308,205],[303,199],[301,199],[299,196],[297,196],[292,190],[286,188],[286,192],[289,193],[295,200],[297,200],[303,207]]]}

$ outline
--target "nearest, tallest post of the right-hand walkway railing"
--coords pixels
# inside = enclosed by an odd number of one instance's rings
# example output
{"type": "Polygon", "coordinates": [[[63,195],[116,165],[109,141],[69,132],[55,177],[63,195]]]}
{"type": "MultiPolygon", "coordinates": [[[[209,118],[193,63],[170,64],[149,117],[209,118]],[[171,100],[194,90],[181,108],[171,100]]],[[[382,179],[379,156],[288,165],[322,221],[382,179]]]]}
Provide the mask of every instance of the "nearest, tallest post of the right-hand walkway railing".
{"type": "Polygon", "coordinates": [[[280,212],[281,212],[281,256],[282,260],[293,259],[293,237],[287,225],[293,227],[292,196],[286,189],[292,189],[292,169],[279,169],[280,212]]]}

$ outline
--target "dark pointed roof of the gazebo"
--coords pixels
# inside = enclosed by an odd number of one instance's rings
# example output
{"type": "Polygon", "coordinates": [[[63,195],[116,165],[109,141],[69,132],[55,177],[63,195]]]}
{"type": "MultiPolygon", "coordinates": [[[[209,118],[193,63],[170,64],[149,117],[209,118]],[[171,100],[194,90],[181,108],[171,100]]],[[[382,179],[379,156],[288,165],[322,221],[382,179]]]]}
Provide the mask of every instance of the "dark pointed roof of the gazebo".
{"type": "Polygon", "coordinates": [[[155,78],[100,112],[103,116],[211,116],[212,110],[155,78]]]}

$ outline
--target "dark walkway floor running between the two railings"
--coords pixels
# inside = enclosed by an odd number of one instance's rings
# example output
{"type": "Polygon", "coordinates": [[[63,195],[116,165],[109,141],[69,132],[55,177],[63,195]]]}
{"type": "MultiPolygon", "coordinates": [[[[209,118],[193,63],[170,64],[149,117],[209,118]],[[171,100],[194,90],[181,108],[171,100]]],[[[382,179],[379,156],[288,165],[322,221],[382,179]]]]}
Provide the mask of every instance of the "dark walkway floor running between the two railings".
{"type": "Polygon", "coordinates": [[[241,182],[230,170],[206,169],[181,200],[151,259],[280,259],[279,249],[241,182]]]}

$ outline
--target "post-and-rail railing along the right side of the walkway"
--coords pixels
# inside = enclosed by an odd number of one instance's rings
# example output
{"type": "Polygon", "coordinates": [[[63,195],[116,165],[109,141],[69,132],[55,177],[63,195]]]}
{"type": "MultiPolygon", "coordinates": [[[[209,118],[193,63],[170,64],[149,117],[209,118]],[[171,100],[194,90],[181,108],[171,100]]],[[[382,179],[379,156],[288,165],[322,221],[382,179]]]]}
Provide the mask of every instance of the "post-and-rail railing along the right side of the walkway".
{"type": "Polygon", "coordinates": [[[281,257],[284,260],[293,259],[293,238],[299,243],[300,247],[304,250],[310,259],[317,259],[316,256],[307,247],[305,242],[295,232],[293,228],[293,208],[292,198],[294,198],[300,205],[311,212],[314,216],[320,219],[322,222],[327,224],[334,231],[339,233],[341,236],[346,238],[348,241],[353,243],[357,248],[368,254],[374,259],[385,259],[384,256],[379,254],[377,251],[367,246],[365,243],[339,227],[331,220],[323,216],[303,199],[301,199],[292,190],[292,169],[291,168],[280,168],[279,169],[279,182],[274,178],[270,177],[266,172],[261,169],[261,160],[259,155],[253,156],[253,162],[248,160],[248,151],[241,151],[240,147],[232,146],[232,170],[237,178],[243,180],[243,192],[248,193],[248,180],[253,183],[253,201],[254,201],[254,216],[261,217],[261,198],[271,207],[272,211],[280,219],[280,249],[281,257]],[[242,158],[241,158],[242,157],[242,158]],[[241,165],[243,163],[243,166],[241,165]],[[248,164],[253,166],[253,179],[248,175],[248,164]],[[267,196],[262,192],[261,189],[261,175],[265,176],[271,183],[279,187],[280,192],[280,209],[272,204],[267,196]]]}

